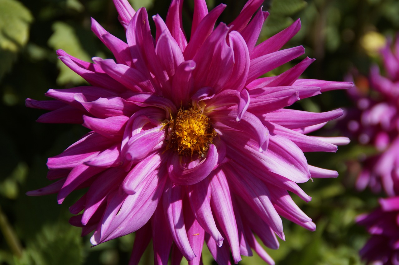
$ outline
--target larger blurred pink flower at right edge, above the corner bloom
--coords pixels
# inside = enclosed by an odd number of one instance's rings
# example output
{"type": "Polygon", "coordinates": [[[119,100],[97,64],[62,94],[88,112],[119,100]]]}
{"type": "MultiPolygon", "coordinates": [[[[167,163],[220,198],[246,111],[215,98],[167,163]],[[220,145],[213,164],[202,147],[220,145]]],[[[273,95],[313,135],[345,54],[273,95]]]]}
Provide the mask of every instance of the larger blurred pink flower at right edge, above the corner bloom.
{"type": "Polygon", "coordinates": [[[388,41],[380,52],[385,76],[373,65],[369,80],[357,75],[358,87],[348,90],[358,107],[348,113],[348,129],[361,144],[377,150],[365,159],[356,186],[369,186],[374,192],[383,188],[388,196],[399,192],[399,41],[391,46],[388,41]]]}

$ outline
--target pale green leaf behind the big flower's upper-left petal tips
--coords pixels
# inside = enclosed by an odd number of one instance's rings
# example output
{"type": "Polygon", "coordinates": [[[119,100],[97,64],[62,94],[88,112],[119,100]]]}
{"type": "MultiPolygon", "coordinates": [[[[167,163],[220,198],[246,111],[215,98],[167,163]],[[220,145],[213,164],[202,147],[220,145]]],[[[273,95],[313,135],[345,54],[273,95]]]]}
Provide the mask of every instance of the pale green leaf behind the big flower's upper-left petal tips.
{"type": "MultiPolygon", "coordinates": [[[[91,60],[89,54],[83,49],[75,29],[71,25],[57,21],[52,27],[54,33],[48,40],[48,45],[51,48],[54,50],[63,49],[68,54],[84,61],[91,60]]],[[[59,68],[57,84],[82,84],[85,82],[81,76],[69,69],[61,60],[57,62],[57,67],[59,68]]]]}

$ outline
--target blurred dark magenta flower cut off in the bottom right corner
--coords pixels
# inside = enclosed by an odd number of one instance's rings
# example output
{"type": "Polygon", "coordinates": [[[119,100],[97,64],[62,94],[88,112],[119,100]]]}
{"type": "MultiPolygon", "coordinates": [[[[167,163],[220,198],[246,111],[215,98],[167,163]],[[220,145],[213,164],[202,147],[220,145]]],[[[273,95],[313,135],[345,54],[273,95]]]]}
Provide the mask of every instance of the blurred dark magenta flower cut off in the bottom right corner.
{"type": "Polygon", "coordinates": [[[356,220],[372,235],[360,255],[375,265],[399,265],[399,196],[380,199],[379,204],[356,220]]]}

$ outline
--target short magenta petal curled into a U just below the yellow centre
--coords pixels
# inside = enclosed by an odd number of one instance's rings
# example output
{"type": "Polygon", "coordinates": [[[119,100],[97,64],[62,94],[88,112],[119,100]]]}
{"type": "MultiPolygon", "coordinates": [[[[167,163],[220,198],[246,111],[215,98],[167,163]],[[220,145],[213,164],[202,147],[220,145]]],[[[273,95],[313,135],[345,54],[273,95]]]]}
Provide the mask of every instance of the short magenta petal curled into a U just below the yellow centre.
{"type": "Polygon", "coordinates": [[[209,145],[206,158],[199,162],[194,168],[184,168],[181,157],[173,154],[169,159],[168,173],[175,185],[192,185],[207,177],[216,166],[218,154],[213,144],[209,145]]]}

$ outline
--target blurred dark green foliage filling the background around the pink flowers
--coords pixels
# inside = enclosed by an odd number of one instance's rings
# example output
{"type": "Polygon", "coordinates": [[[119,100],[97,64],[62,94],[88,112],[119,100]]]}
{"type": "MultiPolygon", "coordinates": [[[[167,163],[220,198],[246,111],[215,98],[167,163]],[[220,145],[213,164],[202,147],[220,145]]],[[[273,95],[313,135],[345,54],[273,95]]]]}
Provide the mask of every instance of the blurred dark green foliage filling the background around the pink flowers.
{"type": "MultiPolygon", "coordinates": [[[[150,16],[166,18],[168,1],[129,0],[148,8],[150,16]]],[[[192,0],[184,6],[184,19],[192,17],[192,0]]],[[[227,4],[221,21],[231,22],[245,0],[210,0],[209,8],[227,4]]],[[[351,67],[367,74],[371,60],[361,46],[370,31],[394,35],[399,29],[399,2],[396,0],[265,0],[267,19],[260,40],[301,18],[301,31],[287,47],[304,45],[306,56],[316,58],[304,73],[308,78],[342,80],[351,67]]],[[[93,56],[112,58],[90,31],[90,17],[105,29],[125,39],[111,0],[0,0],[0,264],[127,264],[134,235],[90,248],[89,236],[80,237],[79,228],[68,224],[71,205],[81,194],[72,194],[63,205],[55,195],[27,197],[24,193],[50,182],[45,178],[46,159],[62,152],[86,130],[78,125],[37,124],[43,111],[28,109],[24,99],[45,99],[49,88],[69,88],[85,81],[57,60],[55,51],[90,60],[93,56]],[[19,252],[18,249],[22,252],[19,252]]],[[[152,25],[153,26],[153,25],[152,25]]],[[[190,30],[190,23],[184,27],[190,30]]],[[[188,34],[189,35],[189,34],[188,34]]],[[[378,62],[378,60],[377,60],[378,62]]],[[[271,74],[290,67],[285,65],[271,74]]],[[[326,111],[351,102],[345,92],[327,92],[306,99],[294,107],[326,111]]],[[[319,135],[338,135],[334,123],[319,135]]],[[[356,142],[339,148],[337,154],[309,154],[309,163],[338,170],[337,179],[315,179],[303,189],[313,197],[310,203],[294,198],[316,222],[309,232],[284,222],[286,242],[269,250],[277,264],[342,265],[361,264],[358,250],[367,239],[363,228],[354,224],[361,212],[377,205],[376,196],[354,190],[357,158],[373,148],[356,142]],[[348,170],[351,169],[351,170],[348,170]]],[[[142,264],[152,263],[147,249],[142,264]]],[[[205,264],[212,263],[204,248],[205,264]]],[[[258,256],[244,257],[240,264],[263,264],[258,256]]]]}

